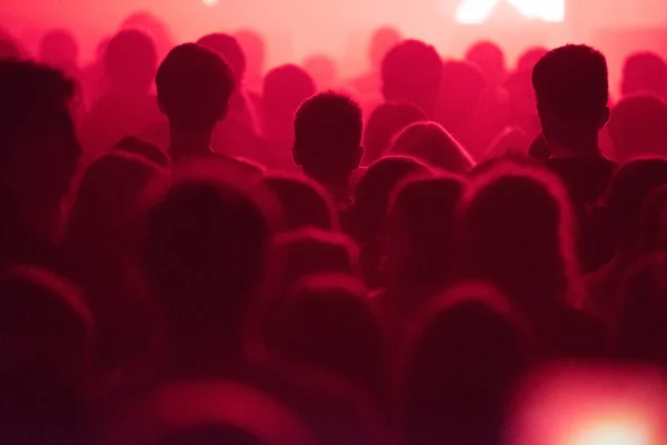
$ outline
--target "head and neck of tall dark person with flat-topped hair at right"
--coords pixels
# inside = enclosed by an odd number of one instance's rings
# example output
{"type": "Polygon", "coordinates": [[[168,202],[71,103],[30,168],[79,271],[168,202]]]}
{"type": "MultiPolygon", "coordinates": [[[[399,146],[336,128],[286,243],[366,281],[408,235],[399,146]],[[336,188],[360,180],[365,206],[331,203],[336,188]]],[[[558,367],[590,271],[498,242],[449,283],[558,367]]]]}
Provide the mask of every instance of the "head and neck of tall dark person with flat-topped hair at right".
{"type": "Polygon", "coordinates": [[[549,51],[532,71],[547,167],[565,182],[576,207],[597,204],[616,165],[598,148],[609,119],[607,61],[597,50],[568,44],[549,51]]]}

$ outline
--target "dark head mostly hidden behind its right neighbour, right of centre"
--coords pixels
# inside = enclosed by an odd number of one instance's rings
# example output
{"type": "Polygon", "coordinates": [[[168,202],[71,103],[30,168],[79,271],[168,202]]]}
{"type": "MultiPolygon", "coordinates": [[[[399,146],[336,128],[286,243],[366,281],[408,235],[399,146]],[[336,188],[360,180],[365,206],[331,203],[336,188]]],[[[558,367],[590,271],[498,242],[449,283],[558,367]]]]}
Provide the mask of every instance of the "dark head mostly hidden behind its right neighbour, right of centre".
{"type": "Polygon", "coordinates": [[[385,221],[394,189],[411,176],[430,169],[415,158],[387,156],[368,167],[355,188],[352,235],[361,251],[364,281],[370,289],[381,284],[385,221]]]}

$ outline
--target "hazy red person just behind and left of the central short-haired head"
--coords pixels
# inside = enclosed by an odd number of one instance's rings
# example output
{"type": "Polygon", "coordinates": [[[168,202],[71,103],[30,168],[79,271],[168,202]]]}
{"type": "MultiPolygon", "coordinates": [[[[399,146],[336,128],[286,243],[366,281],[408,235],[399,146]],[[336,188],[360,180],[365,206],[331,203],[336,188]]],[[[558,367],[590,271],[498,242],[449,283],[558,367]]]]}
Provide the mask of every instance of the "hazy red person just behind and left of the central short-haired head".
{"type": "Polygon", "coordinates": [[[291,148],[295,144],[295,115],[299,106],[317,91],[312,78],[296,65],[270,70],[263,79],[261,121],[267,139],[262,154],[267,166],[292,170],[291,148]]]}

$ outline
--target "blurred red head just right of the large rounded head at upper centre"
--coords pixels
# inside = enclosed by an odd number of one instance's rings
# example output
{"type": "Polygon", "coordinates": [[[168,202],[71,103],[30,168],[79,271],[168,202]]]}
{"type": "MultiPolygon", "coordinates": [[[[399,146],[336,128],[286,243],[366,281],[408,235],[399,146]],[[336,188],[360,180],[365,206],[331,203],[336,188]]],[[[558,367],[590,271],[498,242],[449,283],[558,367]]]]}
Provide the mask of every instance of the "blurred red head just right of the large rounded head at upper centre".
{"type": "Polygon", "coordinates": [[[436,120],[454,134],[469,127],[486,90],[487,81],[476,65],[446,61],[436,105],[436,120]]]}

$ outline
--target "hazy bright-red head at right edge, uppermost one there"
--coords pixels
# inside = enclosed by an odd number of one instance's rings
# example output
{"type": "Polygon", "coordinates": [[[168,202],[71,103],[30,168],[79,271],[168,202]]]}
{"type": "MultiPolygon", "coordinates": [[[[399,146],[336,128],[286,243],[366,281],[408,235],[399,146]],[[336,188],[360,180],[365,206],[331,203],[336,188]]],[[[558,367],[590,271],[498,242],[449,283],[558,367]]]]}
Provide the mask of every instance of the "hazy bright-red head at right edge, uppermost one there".
{"type": "Polygon", "coordinates": [[[625,60],[623,96],[650,93],[667,99],[667,62],[655,52],[635,52],[625,60]]]}

